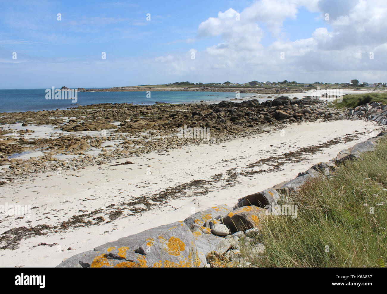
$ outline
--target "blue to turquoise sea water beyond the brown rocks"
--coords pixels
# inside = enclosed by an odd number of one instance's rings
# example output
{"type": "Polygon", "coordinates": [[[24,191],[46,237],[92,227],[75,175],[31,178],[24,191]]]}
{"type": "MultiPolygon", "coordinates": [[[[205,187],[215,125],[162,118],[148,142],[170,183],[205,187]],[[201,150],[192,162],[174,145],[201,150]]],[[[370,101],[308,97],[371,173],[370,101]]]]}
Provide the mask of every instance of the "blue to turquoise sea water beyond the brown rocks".
{"type": "MultiPolygon", "coordinates": [[[[235,98],[234,92],[193,92],[193,91],[152,91],[147,98],[146,91],[139,92],[78,92],[77,103],[71,100],[47,100],[46,89],[5,89],[0,90],[0,112],[55,110],[98,103],[173,104],[235,98]]],[[[240,94],[240,98],[250,94],[240,94]]]]}

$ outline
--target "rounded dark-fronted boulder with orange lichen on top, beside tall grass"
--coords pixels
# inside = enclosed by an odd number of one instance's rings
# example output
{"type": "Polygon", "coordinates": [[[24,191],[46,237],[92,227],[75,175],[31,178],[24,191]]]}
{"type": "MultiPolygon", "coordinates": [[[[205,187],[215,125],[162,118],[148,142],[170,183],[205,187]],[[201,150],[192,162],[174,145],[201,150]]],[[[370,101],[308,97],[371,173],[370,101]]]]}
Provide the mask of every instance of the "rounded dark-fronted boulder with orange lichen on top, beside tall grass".
{"type": "Polygon", "coordinates": [[[257,206],[243,206],[229,212],[221,219],[231,232],[246,231],[259,228],[262,218],[265,217],[266,209],[257,206]]]}

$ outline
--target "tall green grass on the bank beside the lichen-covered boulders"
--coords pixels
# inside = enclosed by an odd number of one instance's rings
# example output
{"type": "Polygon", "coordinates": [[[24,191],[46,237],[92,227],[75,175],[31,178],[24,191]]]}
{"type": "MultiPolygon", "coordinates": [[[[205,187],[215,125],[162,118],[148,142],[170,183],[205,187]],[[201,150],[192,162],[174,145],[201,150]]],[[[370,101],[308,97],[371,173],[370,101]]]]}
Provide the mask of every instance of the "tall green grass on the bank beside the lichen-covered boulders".
{"type": "Polygon", "coordinates": [[[387,140],[347,161],[333,177],[293,195],[298,217],[270,216],[259,267],[378,267],[387,261],[387,140]],[[384,202],[384,205],[377,205],[384,202]],[[373,213],[370,213],[373,207],[373,213]],[[329,246],[329,252],[326,252],[329,246]]]}

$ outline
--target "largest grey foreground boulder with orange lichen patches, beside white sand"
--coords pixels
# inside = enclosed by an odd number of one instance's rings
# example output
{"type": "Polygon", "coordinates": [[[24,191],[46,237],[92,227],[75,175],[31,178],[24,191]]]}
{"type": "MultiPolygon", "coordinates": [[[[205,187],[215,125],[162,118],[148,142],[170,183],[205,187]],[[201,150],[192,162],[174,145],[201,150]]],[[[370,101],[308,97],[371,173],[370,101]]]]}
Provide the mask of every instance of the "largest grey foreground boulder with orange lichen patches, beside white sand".
{"type": "Polygon", "coordinates": [[[205,267],[195,237],[182,221],[120,238],[80,253],[58,267],[205,267]]]}

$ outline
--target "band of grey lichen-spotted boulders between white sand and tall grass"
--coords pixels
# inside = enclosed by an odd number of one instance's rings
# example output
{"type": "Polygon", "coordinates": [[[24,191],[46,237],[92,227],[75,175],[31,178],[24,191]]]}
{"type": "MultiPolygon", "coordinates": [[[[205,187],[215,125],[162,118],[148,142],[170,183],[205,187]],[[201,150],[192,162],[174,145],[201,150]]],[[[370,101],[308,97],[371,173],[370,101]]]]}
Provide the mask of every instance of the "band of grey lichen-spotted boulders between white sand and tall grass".
{"type": "Polygon", "coordinates": [[[233,208],[219,205],[196,212],[183,221],[79,253],[57,267],[249,266],[252,259],[265,258],[265,245],[259,243],[259,234],[267,217],[274,217],[272,211],[279,205],[290,207],[293,193],[310,178],[334,176],[331,172],[337,166],[358,158],[361,153],[373,151],[378,140],[385,137],[380,133],[342,150],[336,158],[313,165],[290,181],[238,199],[233,208]],[[246,248],[249,256],[242,257],[241,250],[246,248]]]}

